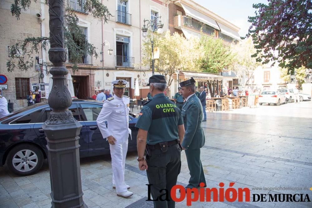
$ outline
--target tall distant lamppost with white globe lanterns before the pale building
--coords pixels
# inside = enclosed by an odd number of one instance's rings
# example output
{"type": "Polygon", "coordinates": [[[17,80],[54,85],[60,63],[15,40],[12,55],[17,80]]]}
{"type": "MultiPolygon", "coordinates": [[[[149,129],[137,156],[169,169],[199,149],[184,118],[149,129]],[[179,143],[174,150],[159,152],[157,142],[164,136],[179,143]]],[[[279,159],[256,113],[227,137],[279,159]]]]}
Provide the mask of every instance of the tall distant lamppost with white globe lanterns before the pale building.
{"type": "Polygon", "coordinates": [[[146,37],[147,36],[147,30],[148,28],[150,27],[151,28],[151,31],[152,31],[152,40],[151,40],[151,43],[152,43],[152,73],[154,75],[154,41],[153,41],[153,33],[155,31],[155,27],[157,27],[157,33],[158,34],[162,34],[163,33],[163,24],[161,23],[161,20],[160,20],[161,16],[160,17],[156,17],[155,19],[151,19],[151,20],[145,20],[144,19],[144,25],[142,27],[142,36],[143,37],[146,37]],[[157,19],[159,18],[159,22],[157,23],[157,19]],[[147,27],[145,26],[145,22],[147,22],[147,27]]]}

